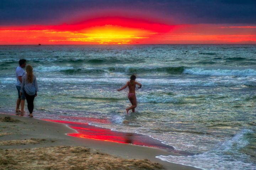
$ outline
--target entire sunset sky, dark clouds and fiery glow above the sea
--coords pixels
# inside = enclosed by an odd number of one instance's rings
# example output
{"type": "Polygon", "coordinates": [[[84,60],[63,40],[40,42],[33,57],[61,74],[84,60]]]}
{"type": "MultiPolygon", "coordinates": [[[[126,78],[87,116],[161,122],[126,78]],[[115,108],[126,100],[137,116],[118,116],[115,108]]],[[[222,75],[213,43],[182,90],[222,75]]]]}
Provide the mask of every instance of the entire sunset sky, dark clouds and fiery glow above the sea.
{"type": "Polygon", "coordinates": [[[256,44],[256,0],[1,0],[0,45],[256,44]]]}

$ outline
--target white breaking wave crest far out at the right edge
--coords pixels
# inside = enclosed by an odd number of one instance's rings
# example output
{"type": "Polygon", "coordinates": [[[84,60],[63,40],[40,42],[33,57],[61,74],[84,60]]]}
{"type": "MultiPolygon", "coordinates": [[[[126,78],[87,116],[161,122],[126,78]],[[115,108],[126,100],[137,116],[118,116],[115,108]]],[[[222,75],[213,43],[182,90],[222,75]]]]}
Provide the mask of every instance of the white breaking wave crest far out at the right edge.
{"type": "Polygon", "coordinates": [[[186,68],[183,71],[184,74],[193,74],[193,75],[214,75],[214,76],[223,76],[223,75],[236,75],[236,76],[256,76],[256,70],[254,69],[245,69],[245,70],[222,70],[222,69],[203,69],[203,68],[186,68]]]}

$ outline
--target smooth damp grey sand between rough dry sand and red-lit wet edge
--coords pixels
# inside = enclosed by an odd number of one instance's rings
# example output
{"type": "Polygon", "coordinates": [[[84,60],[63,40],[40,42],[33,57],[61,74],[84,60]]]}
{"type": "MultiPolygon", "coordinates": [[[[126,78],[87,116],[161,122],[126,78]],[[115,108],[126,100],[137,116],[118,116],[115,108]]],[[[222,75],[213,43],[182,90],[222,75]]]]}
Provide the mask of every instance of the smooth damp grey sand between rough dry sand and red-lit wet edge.
{"type": "Polygon", "coordinates": [[[166,151],[165,149],[72,137],[65,134],[74,133],[75,130],[71,129],[68,127],[68,125],[65,124],[53,123],[34,118],[31,119],[27,117],[20,117],[5,113],[0,113],[0,117],[11,117],[13,119],[19,120],[18,123],[4,123],[5,126],[10,126],[9,128],[3,128],[2,126],[0,127],[0,133],[6,130],[9,130],[11,133],[13,133],[0,136],[2,141],[24,140],[28,138],[38,138],[48,141],[27,145],[2,145],[0,146],[0,149],[38,148],[63,145],[80,146],[91,148],[101,153],[110,154],[119,158],[148,159],[153,163],[163,165],[165,169],[196,170],[196,168],[191,166],[169,163],[155,158],[159,155],[180,155],[178,153],[166,151]],[[11,129],[11,126],[14,126],[16,129],[11,129]],[[44,130],[43,133],[42,130],[44,130]],[[15,134],[16,131],[18,133],[15,134]]]}

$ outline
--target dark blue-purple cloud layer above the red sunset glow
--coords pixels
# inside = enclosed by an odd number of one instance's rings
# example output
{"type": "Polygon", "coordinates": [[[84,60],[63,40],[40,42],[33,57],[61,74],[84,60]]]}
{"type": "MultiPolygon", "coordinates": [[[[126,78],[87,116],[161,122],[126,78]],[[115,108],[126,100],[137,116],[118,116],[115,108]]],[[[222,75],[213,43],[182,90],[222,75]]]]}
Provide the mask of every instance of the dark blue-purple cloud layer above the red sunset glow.
{"type": "Polygon", "coordinates": [[[0,25],[63,22],[78,11],[108,8],[152,11],[177,23],[256,23],[256,0],[0,0],[0,25]]]}

